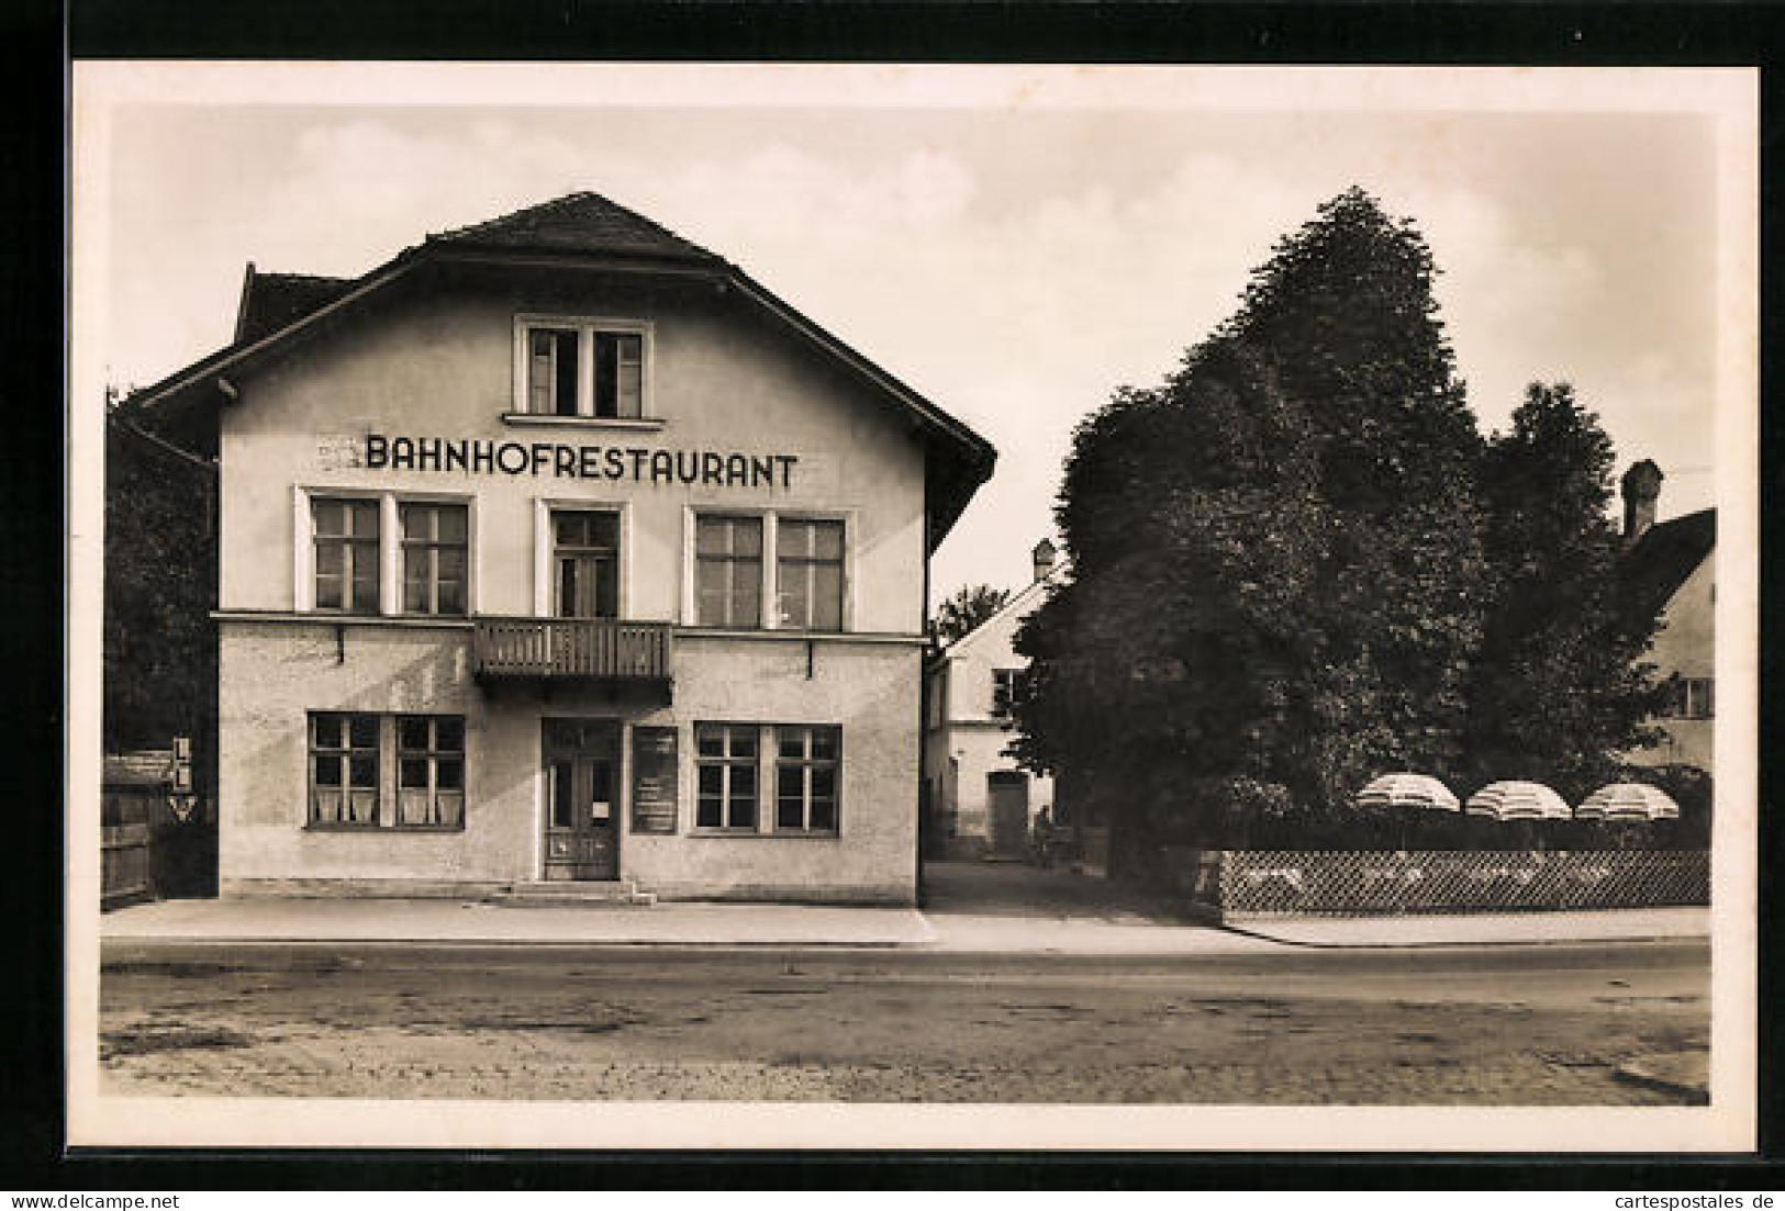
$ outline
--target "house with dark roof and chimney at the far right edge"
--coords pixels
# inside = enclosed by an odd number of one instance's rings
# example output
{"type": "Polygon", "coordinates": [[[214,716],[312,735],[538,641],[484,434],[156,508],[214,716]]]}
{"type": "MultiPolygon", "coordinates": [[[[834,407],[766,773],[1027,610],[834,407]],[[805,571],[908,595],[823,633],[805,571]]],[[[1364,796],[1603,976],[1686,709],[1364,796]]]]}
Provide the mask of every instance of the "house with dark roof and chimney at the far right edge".
{"type": "Polygon", "coordinates": [[[1712,772],[1717,510],[1656,523],[1660,487],[1662,471],[1646,458],[1624,473],[1624,592],[1639,615],[1660,619],[1644,660],[1671,688],[1667,708],[1655,721],[1665,738],[1630,760],[1712,772]]]}

